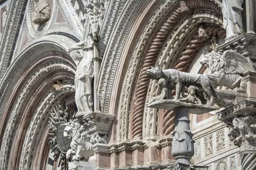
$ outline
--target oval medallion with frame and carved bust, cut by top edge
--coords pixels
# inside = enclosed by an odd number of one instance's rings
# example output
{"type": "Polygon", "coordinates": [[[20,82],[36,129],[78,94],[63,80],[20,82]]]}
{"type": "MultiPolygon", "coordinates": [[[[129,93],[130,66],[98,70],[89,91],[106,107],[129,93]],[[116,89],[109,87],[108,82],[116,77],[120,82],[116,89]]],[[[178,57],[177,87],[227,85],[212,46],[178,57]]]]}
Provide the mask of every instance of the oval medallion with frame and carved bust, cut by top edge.
{"type": "Polygon", "coordinates": [[[31,0],[29,6],[29,20],[35,34],[41,34],[49,25],[52,6],[52,0],[31,0]]]}

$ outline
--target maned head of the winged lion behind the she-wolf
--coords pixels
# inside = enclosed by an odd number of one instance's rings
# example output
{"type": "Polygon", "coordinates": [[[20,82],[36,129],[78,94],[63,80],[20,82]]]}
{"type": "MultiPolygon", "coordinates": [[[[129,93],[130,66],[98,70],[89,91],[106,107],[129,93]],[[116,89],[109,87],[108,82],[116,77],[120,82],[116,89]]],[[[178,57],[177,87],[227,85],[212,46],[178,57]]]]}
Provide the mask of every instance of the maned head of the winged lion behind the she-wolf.
{"type": "Polygon", "coordinates": [[[208,74],[214,73],[215,71],[219,71],[224,67],[223,56],[219,53],[209,53],[206,54],[200,61],[201,65],[208,67],[208,74]]]}

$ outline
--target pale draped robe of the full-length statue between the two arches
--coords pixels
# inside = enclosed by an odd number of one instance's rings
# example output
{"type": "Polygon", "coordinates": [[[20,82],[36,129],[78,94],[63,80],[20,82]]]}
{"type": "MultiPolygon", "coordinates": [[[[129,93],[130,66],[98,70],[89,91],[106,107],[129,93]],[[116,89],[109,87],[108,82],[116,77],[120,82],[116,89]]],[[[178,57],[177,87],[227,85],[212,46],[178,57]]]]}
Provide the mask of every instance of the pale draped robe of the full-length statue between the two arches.
{"type": "Polygon", "coordinates": [[[75,76],[75,101],[78,111],[92,111],[92,79],[93,63],[90,59],[83,58],[77,66],[75,76]],[[82,76],[82,79],[79,79],[79,76],[82,76]]]}

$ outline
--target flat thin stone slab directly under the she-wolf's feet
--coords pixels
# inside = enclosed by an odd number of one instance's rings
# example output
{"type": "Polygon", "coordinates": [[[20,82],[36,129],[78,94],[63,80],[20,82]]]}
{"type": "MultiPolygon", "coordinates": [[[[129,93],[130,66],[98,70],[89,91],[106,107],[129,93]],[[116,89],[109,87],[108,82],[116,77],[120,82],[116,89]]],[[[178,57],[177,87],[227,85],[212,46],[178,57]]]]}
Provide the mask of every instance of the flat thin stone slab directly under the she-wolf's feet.
{"type": "Polygon", "coordinates": [[[175,100],[158,100],[148,104],[148,107],[165,109],[169,111],[173,111],[177,107],[187,107],[190,109],[189,113],[193,113],[193,114],[203,114],[203,113],[208,113],[210,111],[216,110],[216,108],[212,106],[192,104],[192,103],[180,102],[175,100]]]}

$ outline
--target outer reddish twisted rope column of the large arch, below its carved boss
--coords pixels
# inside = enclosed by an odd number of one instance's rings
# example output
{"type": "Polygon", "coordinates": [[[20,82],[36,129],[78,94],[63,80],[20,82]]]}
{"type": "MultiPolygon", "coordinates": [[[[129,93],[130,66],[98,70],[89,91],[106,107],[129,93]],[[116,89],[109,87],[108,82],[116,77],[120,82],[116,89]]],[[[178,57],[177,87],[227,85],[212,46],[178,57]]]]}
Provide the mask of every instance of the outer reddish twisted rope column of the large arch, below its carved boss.
{"type": "Polygon", "coordinates": [[[168,36],[171,29],[175,24],[180,20],[180,18],[189,11],[189,8],[186,6],[184,1],[180,2],[180,7],[176,8],[175,11],[171,14],[160,28],[160,31],[157,33],[156,38],[153,40],[153,43],[148,51],[148,54],[145,57],[143,68],[140,71],[138,77],[139,82],[137,82],[135,99],[133,105],[133,117],[132,117],[132,138],[142,137],[142,124],[143,124],[143,110],[145,105],[145,94],[148,86],[148,76],[145,74],[146,70],[151,68],[154,64],[157,54],[160,51],[160,48],[168,36]]]}

